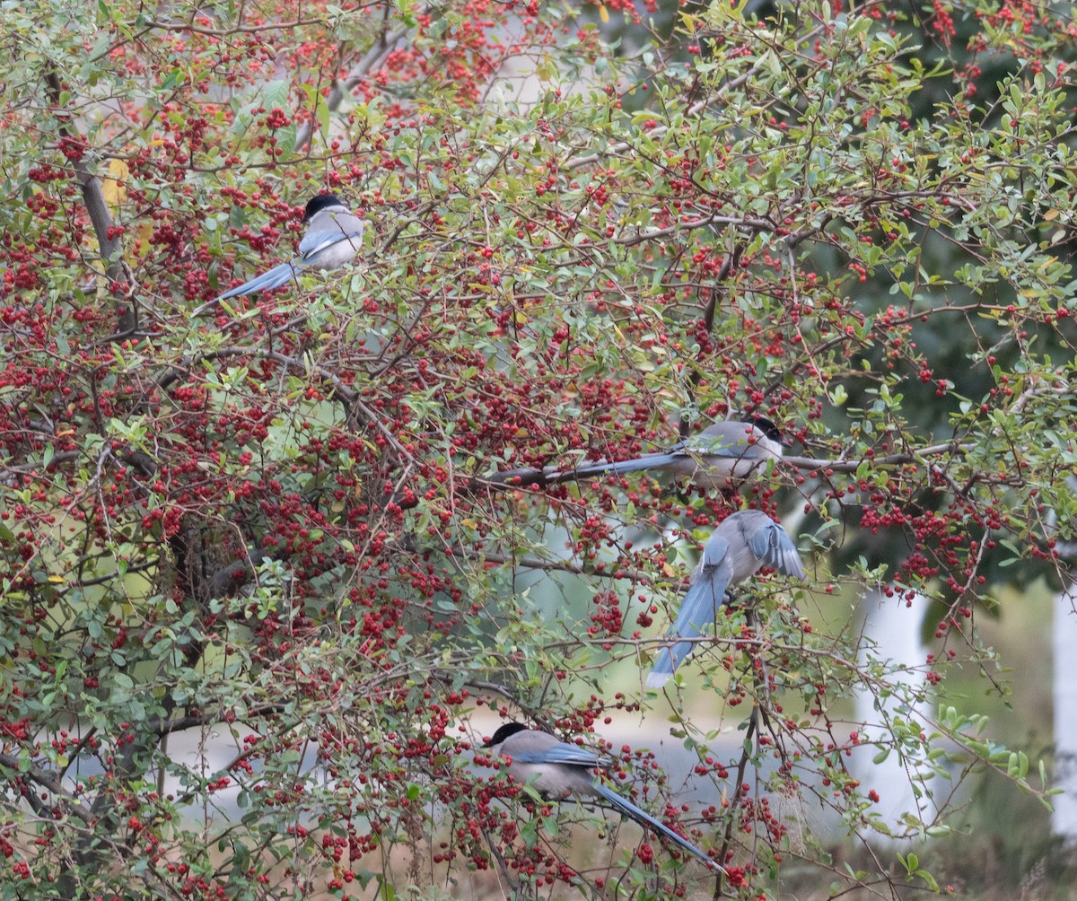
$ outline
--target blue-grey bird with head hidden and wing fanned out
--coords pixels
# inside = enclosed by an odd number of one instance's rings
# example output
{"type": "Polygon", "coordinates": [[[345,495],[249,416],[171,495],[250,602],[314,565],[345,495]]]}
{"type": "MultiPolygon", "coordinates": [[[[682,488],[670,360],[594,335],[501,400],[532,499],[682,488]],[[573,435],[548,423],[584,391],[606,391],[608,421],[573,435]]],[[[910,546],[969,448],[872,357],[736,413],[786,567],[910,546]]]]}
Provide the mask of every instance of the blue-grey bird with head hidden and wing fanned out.
{"type": "MultiPolygon", "coordinates": [[[[703,547],[703,559],[691,574],[688,591],[667,638],[698,638],[715,621],[730,585],[770,566],[786,576],[805,577],[793,539],[760,510],[739,510],[726,517],[703,547]]],[[[662,647],[647,676],[648,688],[660,688],[677,664],[691,653],[696,642],[675,640],[662,647]]]]}

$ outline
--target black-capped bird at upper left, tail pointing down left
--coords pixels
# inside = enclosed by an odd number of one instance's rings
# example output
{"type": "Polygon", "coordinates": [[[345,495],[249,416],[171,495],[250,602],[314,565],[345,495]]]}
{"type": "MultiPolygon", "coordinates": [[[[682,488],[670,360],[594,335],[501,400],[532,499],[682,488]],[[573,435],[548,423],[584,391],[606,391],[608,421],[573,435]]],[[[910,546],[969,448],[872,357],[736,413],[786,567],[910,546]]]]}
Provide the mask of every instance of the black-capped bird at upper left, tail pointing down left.
{"type": "Polygon", "coordinates": [[[274,266],[257,278],[229,288],[220,297],[202,304],[192,315],[199,315],[229,297],[280,287],[296,280],[306,269],[339,269],[351,263],[363,247],[365,222],[345,207],[335,194],[311,197],[303,221],[309,224],[307,234],[299,241],[299,255],[295,259],[274,266]]]}

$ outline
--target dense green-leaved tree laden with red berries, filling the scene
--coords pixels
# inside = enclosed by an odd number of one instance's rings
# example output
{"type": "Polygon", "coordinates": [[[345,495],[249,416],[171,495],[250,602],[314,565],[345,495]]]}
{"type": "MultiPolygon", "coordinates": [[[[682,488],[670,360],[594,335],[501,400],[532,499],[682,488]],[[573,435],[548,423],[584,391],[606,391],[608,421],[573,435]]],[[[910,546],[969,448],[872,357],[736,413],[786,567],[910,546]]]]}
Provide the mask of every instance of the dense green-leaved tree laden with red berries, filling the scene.
{"type": "Polygon", "coordinates": [[[978,768],[1047,796],[947,687],[1005,690],[977,617],[1064,578],[1077,29],[651,6],[0,9],[4,898],[757,897],[796,858],[896,893],[929,850],[856,872],[805,822],[941,834],[978,768]],[[368,220],[354,267],[191,316],[323,189],[368,220]],[[799,445],[740,491],[494,475],[740,413],[799,445]],[[647,691],[742,506],[807,582],[742,591],[647,691]],[[926,681],[872,653],[869,589],[937,602],[926,681]],[[865,690],[890,713],[851,722],[865,690]],[[721,803],[602,747],[670,704],[721,803]],[[602,747],[728,875],[506,783],[488,707],[602,747]],[[878,816],[865,751],[933,804],[878,816]]]}

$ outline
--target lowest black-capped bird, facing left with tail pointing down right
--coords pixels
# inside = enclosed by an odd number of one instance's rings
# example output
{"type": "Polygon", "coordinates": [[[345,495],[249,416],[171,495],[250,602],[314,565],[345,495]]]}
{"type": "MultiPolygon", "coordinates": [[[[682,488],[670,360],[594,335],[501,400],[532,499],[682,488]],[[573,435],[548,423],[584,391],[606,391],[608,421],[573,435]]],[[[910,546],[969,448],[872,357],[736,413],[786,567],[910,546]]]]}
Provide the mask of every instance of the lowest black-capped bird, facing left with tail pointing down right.
{"type": "Polygon", "coordinates": [[[490,748],[491,754],[507,757],[509,775],[518,783],[530,783],[540,794],[554,800],[570,794],[601,798],[640,826],[698,857],[711,869],[725,872],[687,839],[602,785],[595,770],[606,761],[592,751],[560,742],[546,732],[528,729],[519,722],[506,722],[500,727],[492,738],[482,743],[482,747],[490,748]]]}

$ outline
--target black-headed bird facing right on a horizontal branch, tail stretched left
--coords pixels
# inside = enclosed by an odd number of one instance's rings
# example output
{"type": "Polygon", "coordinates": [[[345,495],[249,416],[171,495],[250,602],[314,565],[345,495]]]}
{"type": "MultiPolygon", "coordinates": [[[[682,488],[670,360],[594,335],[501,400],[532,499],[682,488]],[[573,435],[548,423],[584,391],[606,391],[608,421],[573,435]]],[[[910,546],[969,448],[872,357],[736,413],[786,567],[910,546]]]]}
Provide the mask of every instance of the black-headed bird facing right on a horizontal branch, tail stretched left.
{"type": "Polygon", "coordinates": [[[616,463],[585,460],[573,469],[510,469],[487,477],[486,481],[548,485],[646,469],[672,479],[690,478],[700,488],[714,491],[758,475],[767,461],[781,460],[783,445],[782,433],[774,423],[764,417],[751,417],[742,422],[715,422],[660,453],[645,453],[616,463]]]}

